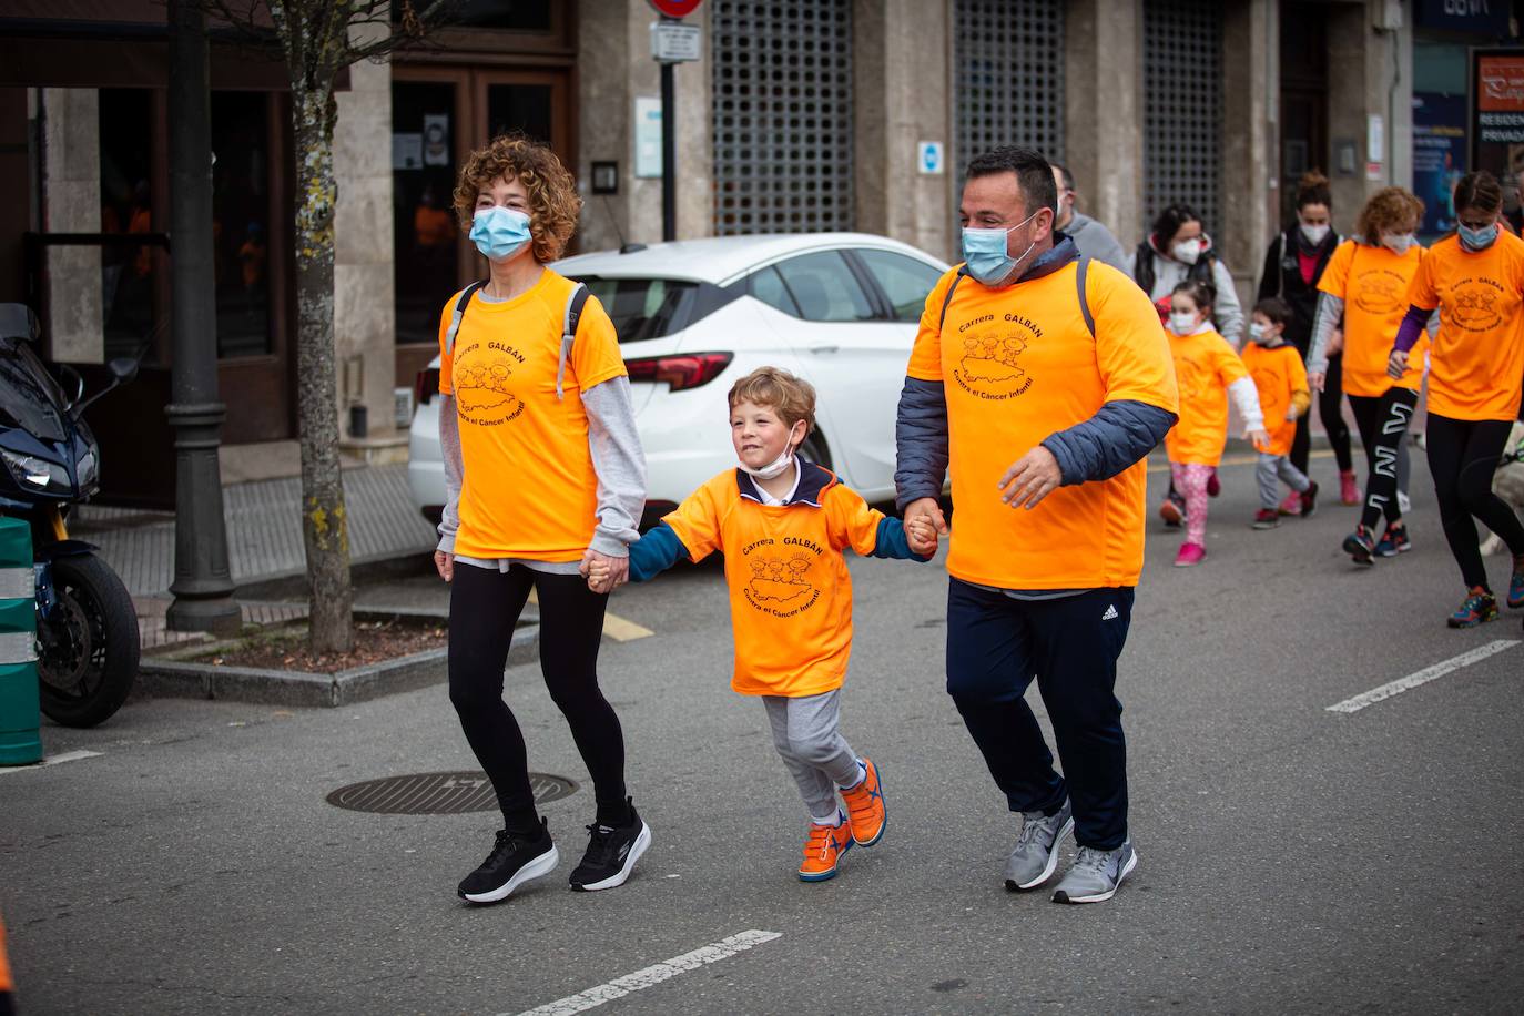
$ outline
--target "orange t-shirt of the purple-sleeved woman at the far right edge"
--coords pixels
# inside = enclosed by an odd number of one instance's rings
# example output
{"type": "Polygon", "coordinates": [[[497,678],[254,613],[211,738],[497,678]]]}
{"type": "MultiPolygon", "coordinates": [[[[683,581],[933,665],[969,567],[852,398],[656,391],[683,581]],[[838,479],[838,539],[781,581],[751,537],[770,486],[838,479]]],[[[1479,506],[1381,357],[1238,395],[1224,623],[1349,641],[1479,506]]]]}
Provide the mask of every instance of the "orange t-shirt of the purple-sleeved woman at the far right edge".
{"type": "MultiPolygon", "coordinates": [[[[1430,413],[1512,420],[1524,393],[1524,241],[1506,230],[1484,251],[1446,236],[1430,247],[1408,303],[1439,308],[1430,349],[1430,413]]],[[[1390,350],[1390,347],[1388,347],[1390,350]]]]}

